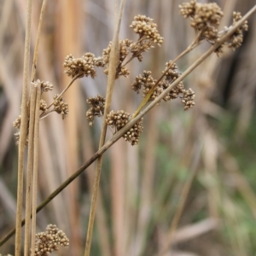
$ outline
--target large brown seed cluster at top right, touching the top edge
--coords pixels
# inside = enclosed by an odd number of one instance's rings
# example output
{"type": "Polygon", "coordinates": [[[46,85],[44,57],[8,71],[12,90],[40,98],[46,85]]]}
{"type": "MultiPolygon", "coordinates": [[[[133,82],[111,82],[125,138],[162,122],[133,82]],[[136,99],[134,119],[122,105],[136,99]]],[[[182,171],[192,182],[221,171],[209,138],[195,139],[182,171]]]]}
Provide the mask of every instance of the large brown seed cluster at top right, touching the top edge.
{"type": "Polygon", "coordinates": [[[196,32],[200,32],[200,40],[207,39],[215,42],[218,38],[218,26],[224,13],[217,3],[189,3],[179,5],[180,13],[186,19],[190,17],[192,26],[196,32]]]}

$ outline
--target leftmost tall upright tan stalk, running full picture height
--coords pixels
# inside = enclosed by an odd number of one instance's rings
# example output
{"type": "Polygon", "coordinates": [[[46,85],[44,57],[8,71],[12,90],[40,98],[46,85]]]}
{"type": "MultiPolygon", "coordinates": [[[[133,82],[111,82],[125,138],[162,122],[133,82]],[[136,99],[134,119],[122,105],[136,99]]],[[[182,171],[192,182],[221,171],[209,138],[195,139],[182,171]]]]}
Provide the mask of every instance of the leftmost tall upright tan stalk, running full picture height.
{"type": "Polygon", "coordinates": [[[21,124],[18,159],[18,185],[17,185],[17,213],[16,213],[16,236],[15,236],[15,256],[20,256],[21,252],[21,219],[22,219],[22,198],[23,198],[23,173],[24,173],[24,152],[26,147],[27,132],[27,81],[29,70],[30,34],[31,34],[32,0],[27,0],[26,4],[26,33],[23,67],[23,90],[21,100],[21,124]]]}

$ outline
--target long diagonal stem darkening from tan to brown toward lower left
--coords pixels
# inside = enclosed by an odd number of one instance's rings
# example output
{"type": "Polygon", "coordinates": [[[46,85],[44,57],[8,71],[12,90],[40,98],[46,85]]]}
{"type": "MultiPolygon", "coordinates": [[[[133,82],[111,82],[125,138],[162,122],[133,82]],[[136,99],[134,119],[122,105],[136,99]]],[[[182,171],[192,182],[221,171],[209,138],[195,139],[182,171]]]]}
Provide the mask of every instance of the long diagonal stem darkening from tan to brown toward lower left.
{"type": "MultiPolygon", "coordinates": [[[[105,143],[102,148],[100,148],[95,154],[93,154],[90,158],[90,160],[87,160],[83,166],[79,167],[79,170],[77,170],[77,172],[74,172],[72,176],[68,177],[67,180],[62,183],[57,189],[55,189],[55,191],[53,193],[51,193],[37,208],[37,212],[41,211],[50,201],[52,201],[56,195],[60,194],[61,191],[63,189],[65,189],[67,187],[67,185],[69,183],[72,183],[73,180],[76,177],[79,177],[79,175],[84,172],[84,170],[90,166],[96,159],[98,159],[104,152],[106,152],[108,150],[108,148],[110,148],[114,143],[116,143],[120,137],[122,137],[126,131],[129,131],[131,129],[131,127],[133,125],[135,125],[137,123],[137,121],[139,119],[141,119],[146,113],[148,113],[148,111],[150,111],[152,108],[154,108],[154,106],[160,102],[160,100],[166,96],[166,94],[168,94],[173,87],[177,86],[177,84],[179,82],[181,82],[183,79],[185,79],[185,77],[187,77],[189,75],[189,73],[191,73],[195,67],[198,67],[202,61],[204,61],[205,59],[207,59],[207,57],[209,55],[212,54],[212,52],[214,52],[215,49],[218,48],[218,46],[220,44],[223,44],[223,42],[230,37],[230,35],[236,31],[236,29],[241,26],[241,24],[247,20],[251,15],[253,15],[253,13],[256,11],[256,5],[253,7],[253,9],[251,9],[250,11],[247,12],[246,15],[244,15],[244,17],[239,20],[235,26],[233,26],[232,29],[230,29],[229,32],[227,32],[220,40],[217,44],[212,45],[212,47],[210,49],[208,49],[205,54],[201,55],[200,58],[197,59],[197,61],[195,61],[190,67],[188,67],[183,74],[176,79],[165,91],[163,91],[160,96],[157,96],[153,102],[150,102],[148,104],[148,106],[146,108],[143,109],[143,111],[139,114],[137,114],[137,116],[134,119],[131,119],[131,121],[125,125],[124,128],[122,128],[121,130],[117,131],[112,138],[110,138],[108,140],[107,143],[105,143]]],[[[25,220],[23,219],[21,222],[21,225],[25,224],[25,220]]],[[[15,229],[10,230],[9,233],[3,237],[3,239],[0,241],[0,246],[2,246],[6,241],[9,240],[9,238],[11,236],[13,236],[15,234],[15,229]]]]}

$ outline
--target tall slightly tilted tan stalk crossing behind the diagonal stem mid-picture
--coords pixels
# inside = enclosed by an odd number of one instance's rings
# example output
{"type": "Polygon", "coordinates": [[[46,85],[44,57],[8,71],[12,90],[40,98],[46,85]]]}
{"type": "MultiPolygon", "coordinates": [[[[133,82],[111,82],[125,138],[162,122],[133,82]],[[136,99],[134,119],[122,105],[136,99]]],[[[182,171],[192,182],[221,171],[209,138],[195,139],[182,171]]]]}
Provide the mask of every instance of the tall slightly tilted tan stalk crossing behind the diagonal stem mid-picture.
{"type": "MultiPolygon", "coordinates": [[[[117,11],[117,3],[118,2],[116,1],[115,11],[117,11]]],[[[102,132],[100,137],[99,148],[102,148],[102,146],[105,143],[105,138],[106,138],[106,133],[108,128],[106,119],[107,119],[107,114],[109,113],[110,107],[111,107],[113,86],[116,78],[116,67],[118,66],[118,62],[119,62],[119,30],[120,30],[121,19],[124,14],[124,9],[125,9],[125,0],[122,0],[120,5],[118,20],[117,20],[117,15],[115,18],[116,28],[113,34],[113,44],[112,44],[111,52],[109,56],[108,87],[107,87],[104,115],[102,119],[102,132]]],[[[96,200],[97,200],[99,183],[101,178],[101,171],[102,171],[102,155],[98,158],[96,162],[96,177],[93,184],[93,190],[92,190],[92,196],[91,196],[90,216],[89,216],[89,223],[88,223],[88,229],[87,229],[84,256],[90,256],[90,245],[91,245],[91,238],[93,233],[94,219],[96,215],[96,200]]]]}

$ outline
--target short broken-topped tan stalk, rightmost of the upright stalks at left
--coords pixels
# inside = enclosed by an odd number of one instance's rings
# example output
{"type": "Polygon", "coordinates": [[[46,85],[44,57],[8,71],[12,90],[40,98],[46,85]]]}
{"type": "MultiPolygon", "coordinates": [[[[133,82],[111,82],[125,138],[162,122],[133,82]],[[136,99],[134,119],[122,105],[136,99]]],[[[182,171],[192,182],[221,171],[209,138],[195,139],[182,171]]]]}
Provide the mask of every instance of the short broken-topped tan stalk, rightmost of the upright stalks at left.
{"type": "Polygon", "coordinates": [[[31,256],[35,255],[36,244],[36,219],[37,219],[37,196],[38,196],[38,154],[39,154],[39,115],[40,115],[41,88],[37,85],[37,100],[34,127],[34,152],[33,152],[33,180],[32,180],[32,230],[31,230],[31,256]]]}

